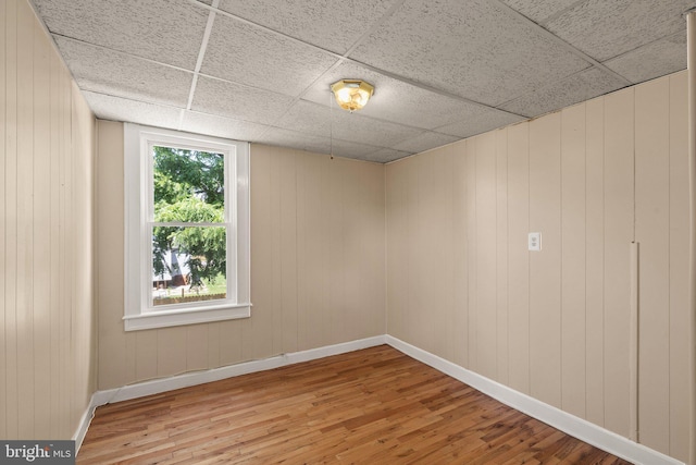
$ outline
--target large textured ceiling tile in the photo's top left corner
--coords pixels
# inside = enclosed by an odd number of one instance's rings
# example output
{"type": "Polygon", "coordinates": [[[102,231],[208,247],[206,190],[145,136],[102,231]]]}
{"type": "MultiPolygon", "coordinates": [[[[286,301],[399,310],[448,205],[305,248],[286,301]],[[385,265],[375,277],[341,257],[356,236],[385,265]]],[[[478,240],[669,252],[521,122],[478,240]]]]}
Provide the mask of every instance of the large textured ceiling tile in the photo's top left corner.
{"type": "Polygon", "coordinates": [[[61,36],[194,70],[209,12],[186,0],[33,0],[61,36]]]}

